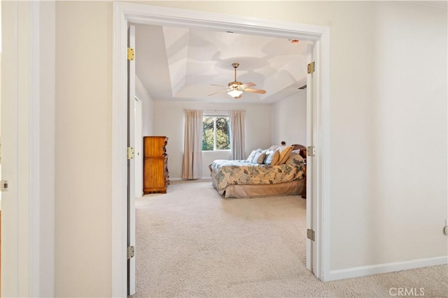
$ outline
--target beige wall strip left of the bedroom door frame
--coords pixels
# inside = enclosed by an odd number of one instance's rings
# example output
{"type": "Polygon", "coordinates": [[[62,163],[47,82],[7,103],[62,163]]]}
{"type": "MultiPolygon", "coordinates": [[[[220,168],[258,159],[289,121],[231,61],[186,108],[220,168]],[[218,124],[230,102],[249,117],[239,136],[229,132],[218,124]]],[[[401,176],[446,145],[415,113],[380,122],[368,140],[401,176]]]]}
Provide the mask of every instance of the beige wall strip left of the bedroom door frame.
{"type": "Polygon", "coordinates": [[[55,296],[111,296],[112,4],[56,3],[55,296]]]}

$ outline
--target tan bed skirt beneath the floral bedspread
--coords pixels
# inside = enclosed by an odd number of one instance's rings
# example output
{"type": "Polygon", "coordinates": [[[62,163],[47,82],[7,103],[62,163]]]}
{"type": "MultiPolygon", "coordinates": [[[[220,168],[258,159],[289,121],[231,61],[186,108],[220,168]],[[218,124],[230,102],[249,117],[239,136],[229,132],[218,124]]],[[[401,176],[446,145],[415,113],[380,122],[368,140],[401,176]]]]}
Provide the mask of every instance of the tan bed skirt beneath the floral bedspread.
{"type": "Polygon", "coordinates": [[[224,198],[257,198],[274,195],[300,195],[304,188],[304,179],[289,181],[280,184],[257,184],[257,185],[229,185],[225,190],[219,191],[216,184],[215,173],[211,171],[211,184],[224,198]]]}

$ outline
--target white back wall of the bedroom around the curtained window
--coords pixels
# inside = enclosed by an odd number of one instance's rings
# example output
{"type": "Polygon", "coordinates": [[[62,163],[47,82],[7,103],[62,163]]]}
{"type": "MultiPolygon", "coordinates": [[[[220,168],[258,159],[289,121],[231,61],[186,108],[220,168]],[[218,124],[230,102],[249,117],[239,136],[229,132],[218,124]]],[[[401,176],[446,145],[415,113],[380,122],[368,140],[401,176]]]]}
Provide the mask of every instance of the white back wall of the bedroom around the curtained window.
{"type": "MultiPolygon", "coordinates": [[[[154,135],[169,137],[167,144],[169,177],[181,179],[185,110],[245,110],[246,156],[258,147],[270,146],[270,105],[220,104],[154,100],[154,135]]],[[[202,154],[202,177],[210,177],[209,164],[215,159],[228,159],[229,154],[202,154]]]]}

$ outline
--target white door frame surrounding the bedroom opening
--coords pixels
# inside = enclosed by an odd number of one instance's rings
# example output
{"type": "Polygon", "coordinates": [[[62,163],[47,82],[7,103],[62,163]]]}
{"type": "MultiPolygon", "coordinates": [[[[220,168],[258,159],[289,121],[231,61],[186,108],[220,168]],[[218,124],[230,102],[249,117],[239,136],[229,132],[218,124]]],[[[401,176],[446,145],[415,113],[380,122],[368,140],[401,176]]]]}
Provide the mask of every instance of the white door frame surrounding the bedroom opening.
{"type": "MultiPolygon", "coordinates": [[[[315,181],[312,210],[316,234],[314,274],[321,281],[330,273],[329,193],[330,193],[330,30],[328,27],[251,17],[237,17],[195,10],[148,6],[137,3],[113,3],[113,98],[112,98],[112,295],[125,296],[127,205],[126,205],[126,140],[127,140],[127,61],[126,41],[129,22],[169,25],[216,31],[233,31],[259,36],[298,38],[318,43],[316,61],[316,108],[314,142],[315,181]]],[[[310,144],[308,144],[310,145],[310,144]]]]}

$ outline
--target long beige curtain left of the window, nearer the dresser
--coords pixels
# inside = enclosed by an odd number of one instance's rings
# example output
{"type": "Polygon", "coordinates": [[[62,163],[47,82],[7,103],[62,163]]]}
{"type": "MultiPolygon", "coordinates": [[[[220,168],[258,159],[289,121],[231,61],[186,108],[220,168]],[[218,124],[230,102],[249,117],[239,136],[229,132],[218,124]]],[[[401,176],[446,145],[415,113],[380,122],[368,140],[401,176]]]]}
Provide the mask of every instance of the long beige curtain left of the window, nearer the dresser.
{"type": "Polygon", "coordinates": [[[202,178],[202,111],[185,111],[183,137],[183,179],[202,178]]]}

